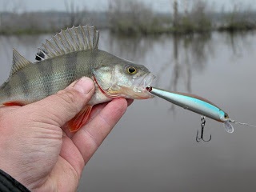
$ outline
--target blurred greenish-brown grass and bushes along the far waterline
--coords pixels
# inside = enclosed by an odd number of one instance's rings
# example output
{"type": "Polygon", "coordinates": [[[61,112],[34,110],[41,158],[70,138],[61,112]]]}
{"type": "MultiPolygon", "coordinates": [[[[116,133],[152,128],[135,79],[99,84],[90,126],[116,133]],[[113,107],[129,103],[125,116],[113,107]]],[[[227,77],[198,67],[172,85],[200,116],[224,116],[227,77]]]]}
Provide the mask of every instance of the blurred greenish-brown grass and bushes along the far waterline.
{"type": "MultiPolygon", "coordinates": [[[[62,29],[65,27],[63,26],[62,29]]],[[[170,18],[154,18],[145,22],[134,22],[129,18],[120,19],[118,22],[112,23],[109,27],[110,31],[114,34],[122,34],[126,36],[137,35],[158,35],[158,34],[194,34],[194,33],[209,33],[213,30],[236,32],[255,30],[256,25],[246,20],[241,21],[226,21],[222,26],[214,27],[209,18],[200,17],[198,19],[192,19],[189,17],[183,17],[179,19],[179,22],[173,26],[170,18]]],[[[59,31],[54,27],[49,29],[42,29],[37,26],[30,26],[23,29],[17,27],[7,27],[0,29],[2,35],[22,35],[22,34],[49,34],[59,31]]]]}

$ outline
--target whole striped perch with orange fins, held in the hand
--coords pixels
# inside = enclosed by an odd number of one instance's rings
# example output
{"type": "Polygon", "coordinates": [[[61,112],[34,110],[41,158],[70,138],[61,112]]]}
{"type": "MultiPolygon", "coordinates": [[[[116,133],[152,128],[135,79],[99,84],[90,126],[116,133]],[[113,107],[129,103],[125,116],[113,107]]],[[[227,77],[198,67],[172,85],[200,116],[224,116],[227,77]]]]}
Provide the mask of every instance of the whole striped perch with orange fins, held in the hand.
{"type": "Polygon", "coordinates": [[[0,105],[24,106],[37,102],[71,82],[89,77],[95,92],[87,106],[66,124],[76,131],[86,124],[92,107],[113,98],[153,98],[146,87],[154,75],[142,65],[98,49],[99,31],[94,26],[61,30],[38,49],[37,62],[13,52],[10,77],[0,86],[0,105]]]}

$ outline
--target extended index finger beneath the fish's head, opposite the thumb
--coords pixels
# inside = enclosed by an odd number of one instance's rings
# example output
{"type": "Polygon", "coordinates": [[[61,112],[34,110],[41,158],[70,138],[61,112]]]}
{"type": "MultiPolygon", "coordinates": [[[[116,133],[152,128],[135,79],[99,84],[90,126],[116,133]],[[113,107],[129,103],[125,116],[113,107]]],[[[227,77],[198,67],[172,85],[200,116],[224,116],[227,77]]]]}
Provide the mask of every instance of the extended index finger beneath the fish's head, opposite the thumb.
{"type": "Polygon", "coordinates": [[[74,134],[72,140],[82,154],[85,163],[89,161],[98,146],[102,144],[103,140],[126,112],[126,109],[127,101],[125,98],[114,98],[92,121],[74,134]]]}

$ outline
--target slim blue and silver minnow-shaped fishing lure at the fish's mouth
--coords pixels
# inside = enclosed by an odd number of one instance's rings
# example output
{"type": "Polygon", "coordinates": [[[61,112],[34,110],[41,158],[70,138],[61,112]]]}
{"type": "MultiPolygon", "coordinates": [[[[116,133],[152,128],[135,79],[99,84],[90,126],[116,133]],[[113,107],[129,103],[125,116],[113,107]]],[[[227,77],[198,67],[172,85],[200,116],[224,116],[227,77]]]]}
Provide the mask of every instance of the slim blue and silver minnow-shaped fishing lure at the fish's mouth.
{"type": "Polygon", "coordinates": [[[151,94],[154,94],[159,98],[163,98],[168,102],[172,102],[177,106],[181,106],[186,110],[191,110],[194,113],[212,118],[218,122],[223,122],[223,126],[228,133],[234,132],[234,127],[231,125],[231,123],[244,126],[253,126],[248,123],[237,122],[231,119],[224,110],[221,110],[218,106],[214,105],[214,103],[198,95],[162,90],[153,86],[147,86],[146,89],[151,94]]]}

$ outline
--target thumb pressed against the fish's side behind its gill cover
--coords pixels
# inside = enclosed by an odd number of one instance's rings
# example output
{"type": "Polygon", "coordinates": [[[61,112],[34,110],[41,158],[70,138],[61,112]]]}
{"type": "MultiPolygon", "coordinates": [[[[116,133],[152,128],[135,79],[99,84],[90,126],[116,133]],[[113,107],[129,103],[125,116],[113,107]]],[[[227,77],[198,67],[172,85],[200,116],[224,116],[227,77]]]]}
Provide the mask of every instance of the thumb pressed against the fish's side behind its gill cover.
{"type": "Polygon", "coordinates": [[[90,101],[94,94],[94,82],[90,78],[80,78],[57,94],[30,104],[40,113],[44,122],[63,126],[90,101]]]}

